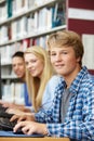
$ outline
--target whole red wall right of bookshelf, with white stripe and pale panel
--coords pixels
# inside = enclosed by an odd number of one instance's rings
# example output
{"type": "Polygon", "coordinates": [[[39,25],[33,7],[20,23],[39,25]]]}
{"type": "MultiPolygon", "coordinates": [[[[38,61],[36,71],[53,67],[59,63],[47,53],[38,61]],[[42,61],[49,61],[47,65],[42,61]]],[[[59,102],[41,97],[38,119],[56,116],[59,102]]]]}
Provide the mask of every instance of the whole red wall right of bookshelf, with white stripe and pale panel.
{"type": "Polygon", "coordinates": [[[67,7],[67,28],[82,36],[83,65],[94,75],[94,0],[68,0],[67,7]]]}

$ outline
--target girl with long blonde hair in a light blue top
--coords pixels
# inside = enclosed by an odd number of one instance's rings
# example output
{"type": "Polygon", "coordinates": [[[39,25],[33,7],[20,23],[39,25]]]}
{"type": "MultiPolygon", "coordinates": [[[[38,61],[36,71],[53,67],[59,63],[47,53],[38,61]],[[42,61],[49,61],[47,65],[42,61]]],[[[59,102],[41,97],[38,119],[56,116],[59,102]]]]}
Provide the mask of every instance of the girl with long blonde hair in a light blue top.
{"type": "MultiPolygon", "coordinates": [[[[26,84],[33,113],[49,110],[54,99],[54,90],[61,76],[54,75],[48,52],[41,47],[31,47],[25,51],[26,84]],[[50,81],[49,81],[50,80],[50,81]],[[46,88],[45,88],[46,86],[46,88]],[[53,86],[53,88],[52,88],[53,86]]],[[[32,114],[9,108],[11,114],[32,114]]]]}

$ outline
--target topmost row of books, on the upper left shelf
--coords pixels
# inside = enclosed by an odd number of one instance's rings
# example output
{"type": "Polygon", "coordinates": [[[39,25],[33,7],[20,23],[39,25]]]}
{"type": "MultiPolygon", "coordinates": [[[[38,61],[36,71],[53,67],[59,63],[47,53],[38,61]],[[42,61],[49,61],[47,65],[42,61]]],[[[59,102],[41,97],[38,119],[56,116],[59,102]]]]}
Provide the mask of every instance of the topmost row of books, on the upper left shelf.
{"type": "Polygon", "coordinates": [[[51,0],[6,0],[0,5],[0,22],[49,1],[51,0]]]}

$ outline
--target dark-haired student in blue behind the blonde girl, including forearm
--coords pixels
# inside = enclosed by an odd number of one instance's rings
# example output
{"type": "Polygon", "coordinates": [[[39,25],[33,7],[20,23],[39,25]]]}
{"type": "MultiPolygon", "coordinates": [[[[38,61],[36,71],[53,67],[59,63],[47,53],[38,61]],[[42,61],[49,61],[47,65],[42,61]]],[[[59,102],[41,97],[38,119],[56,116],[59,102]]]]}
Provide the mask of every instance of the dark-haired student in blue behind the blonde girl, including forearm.
{"type": "MultiPolygon", "coordinates": [[[[27,87],[26,87],[26,68],[25,68],[25,61],[24,61],[24,52],[17,51],[13,54],[12,56],[12,68],[14,74],[17,76],[19,79],[19,82],[25,84],[25,106],[30,106],[31,103],[29,102],[28,98],[28,92],[27,92],[27,87]]],[[[9,102],[3,102],[0,101],[0,103],[5,106],[5,107],[18,107],[24,110],[24,105],[18,105],[14,103],[9,103],[9,102]]]]}

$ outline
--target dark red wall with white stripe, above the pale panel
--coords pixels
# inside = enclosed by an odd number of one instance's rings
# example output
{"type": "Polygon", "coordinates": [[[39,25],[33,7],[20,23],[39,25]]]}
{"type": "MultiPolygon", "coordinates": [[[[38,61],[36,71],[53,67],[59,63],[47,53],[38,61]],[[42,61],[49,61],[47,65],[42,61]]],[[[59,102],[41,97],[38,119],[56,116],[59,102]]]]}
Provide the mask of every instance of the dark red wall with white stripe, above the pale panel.
{"type": "Polygon", "coordinates": [[[94,0],[69,0],[68,8],[68,29],[94,35],[94,0]]]}

